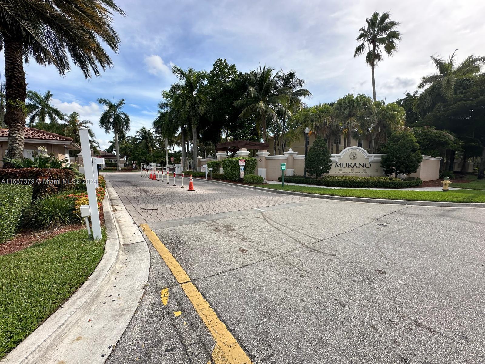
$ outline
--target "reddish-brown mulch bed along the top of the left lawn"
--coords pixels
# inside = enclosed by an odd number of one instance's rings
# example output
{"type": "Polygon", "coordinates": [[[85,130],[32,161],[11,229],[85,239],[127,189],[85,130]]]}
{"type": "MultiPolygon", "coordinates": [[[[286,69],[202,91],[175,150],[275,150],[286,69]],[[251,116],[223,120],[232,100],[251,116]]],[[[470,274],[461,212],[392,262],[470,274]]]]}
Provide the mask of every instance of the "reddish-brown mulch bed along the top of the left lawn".
{"type": "MultiPolygon", "coordinates": [[[[103,205],[101,205],[101,208],[99,209],[99,221],[101,222],[101,225],[104,225],[103,205]]],[[[53,238],[63,232],[72,232],[79,229],[85,229],[85,226],[79,223],[55,229],[24,229],[18,232],[12,240],[0,244],[0,255],[15,253],[16,251],[28,248],[36,243],[53,238]]]]}

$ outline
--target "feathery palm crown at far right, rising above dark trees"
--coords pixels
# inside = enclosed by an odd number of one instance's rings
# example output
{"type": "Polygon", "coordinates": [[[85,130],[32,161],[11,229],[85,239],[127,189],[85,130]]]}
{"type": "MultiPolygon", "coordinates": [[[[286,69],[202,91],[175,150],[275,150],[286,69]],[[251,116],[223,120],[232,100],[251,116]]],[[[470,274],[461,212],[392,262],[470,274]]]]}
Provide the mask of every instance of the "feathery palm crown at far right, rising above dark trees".
{"type": "Polygon", "coordinates": [[[413,108],[422,114],[431,111],[437,103],[447,102],[454,95],[463,93],[473,85],[473,79],[482,70],[485,57],[468,56],[460,65],[455,61],[455,52],[448,61],[431,56],[438,72],[421,78],[418,88],[426,87],[421,92],[413,108]]]}

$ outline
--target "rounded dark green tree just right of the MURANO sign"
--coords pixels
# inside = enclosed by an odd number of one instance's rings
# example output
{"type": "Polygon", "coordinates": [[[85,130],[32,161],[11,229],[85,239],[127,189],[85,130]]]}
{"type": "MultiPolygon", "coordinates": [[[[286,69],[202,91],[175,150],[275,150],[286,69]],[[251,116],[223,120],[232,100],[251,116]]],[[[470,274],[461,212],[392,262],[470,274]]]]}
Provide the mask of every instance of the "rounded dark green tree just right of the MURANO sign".
{"type": "Polygon", "coordinates": [[[410,174],[418,170],[422,161],[420,146],[411,131],[392,134],[384,147],[386,155],[381,166],[388,175],[410,174]]]}

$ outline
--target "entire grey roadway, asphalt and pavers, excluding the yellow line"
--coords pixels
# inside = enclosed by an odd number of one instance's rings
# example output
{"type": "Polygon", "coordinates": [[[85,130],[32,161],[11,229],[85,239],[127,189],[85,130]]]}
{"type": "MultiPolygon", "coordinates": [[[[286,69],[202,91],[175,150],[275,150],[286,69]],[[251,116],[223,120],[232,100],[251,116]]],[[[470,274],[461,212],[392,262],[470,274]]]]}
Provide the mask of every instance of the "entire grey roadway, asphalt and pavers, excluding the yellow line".
{"type": "MultiPolygon", "coordinates": [[[[138,192],[162,213],[175,190],[129,173],[106,178],[254,363],[485,363],[483,209],[281,201],[197,180],[184,203],[203,196],[210,214],[150,222],[133,207],[138,192]]],[[[148,246],[145,296],[107,362],[207,364],[214,340],[148,246]]]]}

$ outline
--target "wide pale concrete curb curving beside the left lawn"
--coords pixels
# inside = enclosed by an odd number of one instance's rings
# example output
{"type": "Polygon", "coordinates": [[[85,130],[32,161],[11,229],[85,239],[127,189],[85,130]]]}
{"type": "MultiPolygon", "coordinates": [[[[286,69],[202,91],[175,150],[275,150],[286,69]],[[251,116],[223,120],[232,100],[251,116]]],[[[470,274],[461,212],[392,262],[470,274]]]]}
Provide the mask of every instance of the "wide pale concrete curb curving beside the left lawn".
{"type": "Polygon", "coordinates": [[[81,288],[3,358],[1,364],[106,361],[138,307],[150,267],[146,241],[131,216],[124,208],[112,211],[113,204],[119,203],[107,182],[103,201],[107,240],[101,261],[81,288]],[[129,239],[120,239],[121,236],[129,239]]]}

